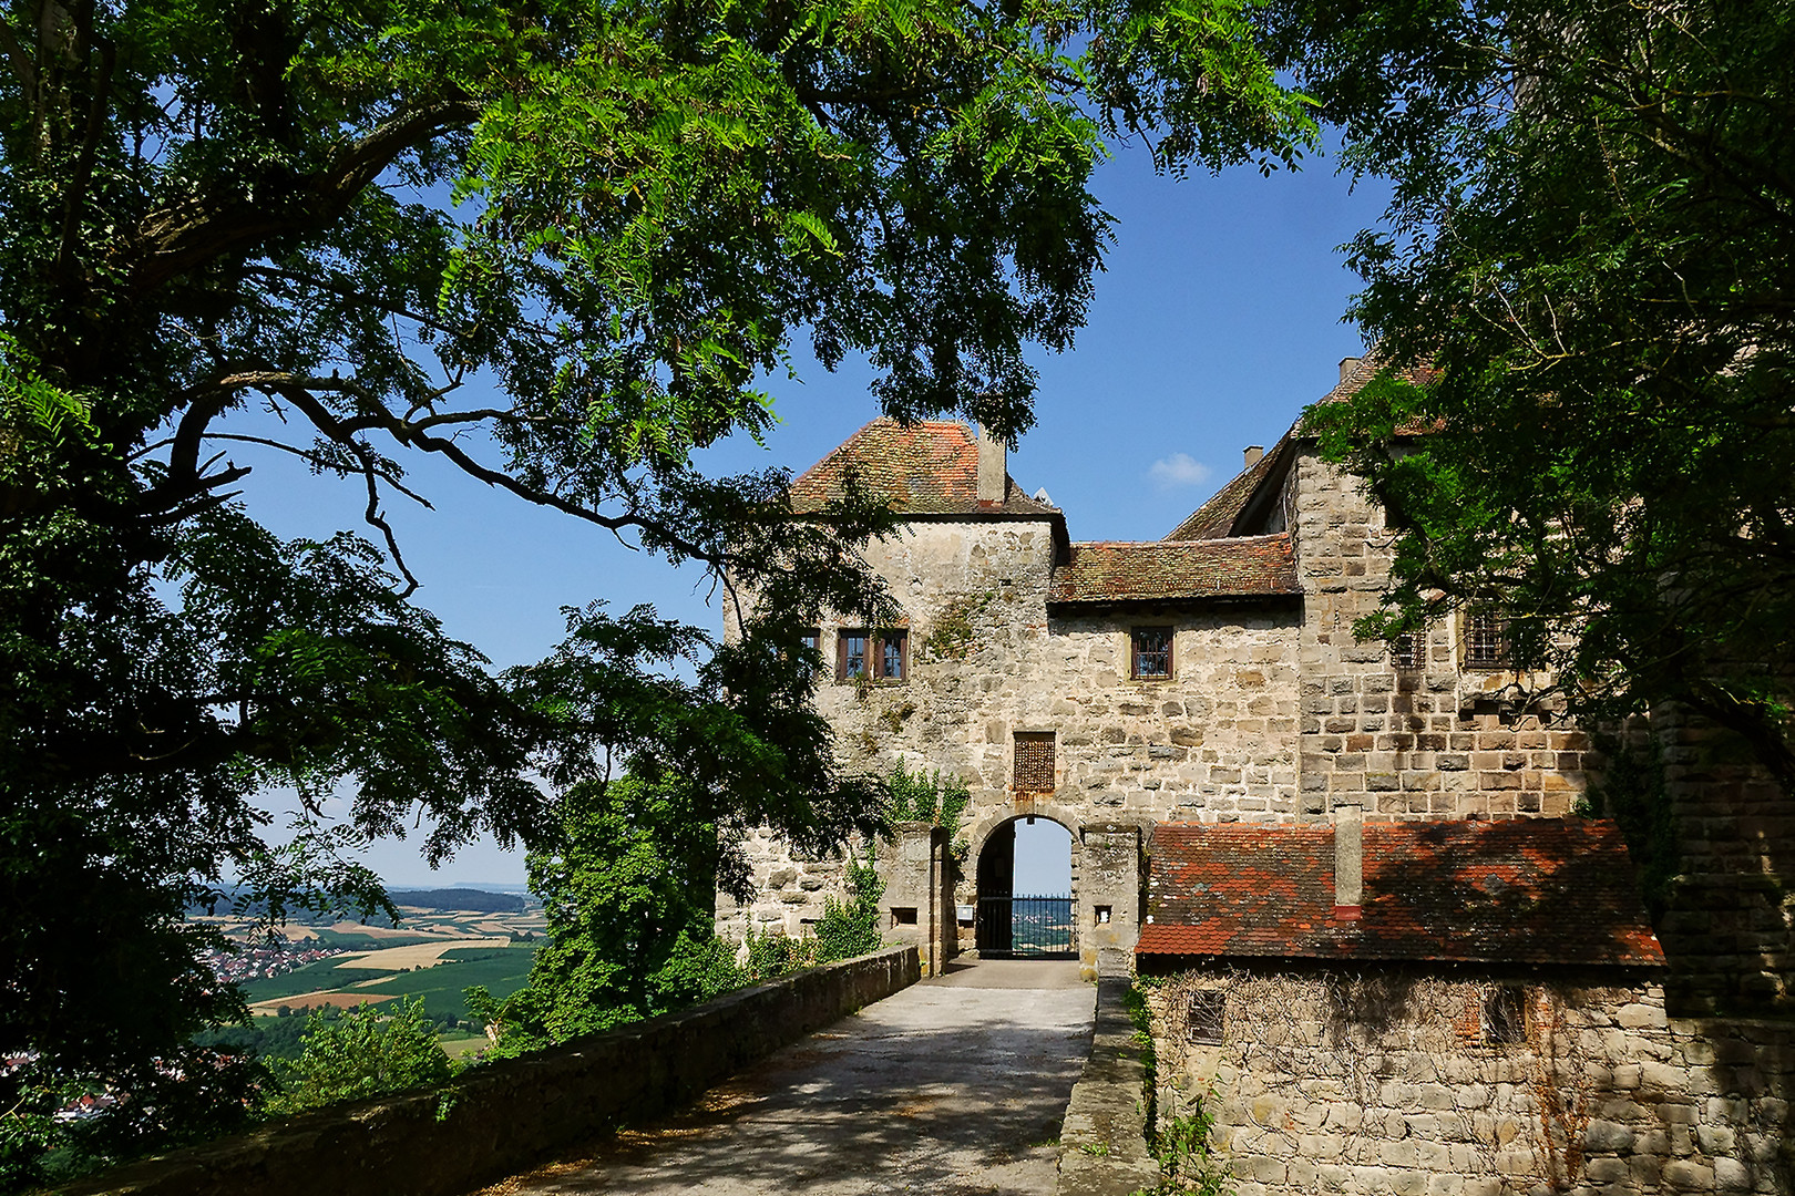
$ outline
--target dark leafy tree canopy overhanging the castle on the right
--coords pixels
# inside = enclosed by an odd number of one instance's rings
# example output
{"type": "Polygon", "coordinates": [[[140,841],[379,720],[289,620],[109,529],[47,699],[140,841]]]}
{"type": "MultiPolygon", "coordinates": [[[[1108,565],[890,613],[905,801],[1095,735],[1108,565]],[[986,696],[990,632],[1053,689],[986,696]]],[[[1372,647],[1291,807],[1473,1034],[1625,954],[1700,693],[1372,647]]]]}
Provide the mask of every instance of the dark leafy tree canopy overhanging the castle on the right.
{"type": "Polygon", "coordinates": [[[1795,22],[1770,4],[1352,5],[1291,25],[1389,174],[1386,380],[1312,411],[1398,529],[1361,631],[1501,608],[1519,667],[1675,699],[1795,782],[1795,22]],[[1429,429],[1425,436],[1409,432],[1429,429]]]}

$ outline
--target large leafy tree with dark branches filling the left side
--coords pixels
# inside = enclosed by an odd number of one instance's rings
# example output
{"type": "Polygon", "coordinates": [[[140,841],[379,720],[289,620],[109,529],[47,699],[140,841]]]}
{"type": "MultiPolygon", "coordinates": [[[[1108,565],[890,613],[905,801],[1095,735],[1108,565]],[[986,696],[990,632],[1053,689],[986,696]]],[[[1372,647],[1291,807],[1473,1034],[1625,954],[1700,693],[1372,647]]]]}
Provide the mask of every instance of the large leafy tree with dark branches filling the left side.
{"type": "Polygon", "coordinates": [[[795,628],[876,608],[889,515],[779,518],[781,473],[691,452],[768,425],[801,337],[1014,436],[1025,346],[1091,298],[1104,140],[1273,169],[1310,131],[1242,0],[16,0],[0,54],[0,1045],[163,1139],[165,1079],[224,1074],[180,1062],[239,1008],[181,911],[230,875],[373,909],[345,843],[553,845],[625,760],[797,837],[869,818],[795,628]],[[248,443],[363,486],[366,538],[267,533],[248,443]],[[422,455],[772,617],[574,611],[495,676],[413,601],[422,455]],[[271,850],[271,785],[352,819],[271,850]]]}

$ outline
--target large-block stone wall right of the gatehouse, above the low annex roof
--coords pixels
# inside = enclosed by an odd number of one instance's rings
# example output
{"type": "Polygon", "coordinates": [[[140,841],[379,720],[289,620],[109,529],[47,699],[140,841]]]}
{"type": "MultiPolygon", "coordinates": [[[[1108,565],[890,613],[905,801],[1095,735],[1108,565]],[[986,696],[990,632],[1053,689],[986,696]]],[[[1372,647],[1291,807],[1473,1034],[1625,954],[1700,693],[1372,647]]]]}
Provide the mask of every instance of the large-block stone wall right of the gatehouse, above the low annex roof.
{"type": "Polygon", "coordinates": [[[1355,477],[1298,457],[1296,550],[1303,581],[1301,809],[1359,802],[1366,816],[1563,816],[1581,796],[1589,739],[1547,712],[1504,708],[1529,678],[1461,669],[1458,620],[1429,628],[1425,665],[1398,671],[1357,619],[1389,577],[1384,513],[1355,477]]]}

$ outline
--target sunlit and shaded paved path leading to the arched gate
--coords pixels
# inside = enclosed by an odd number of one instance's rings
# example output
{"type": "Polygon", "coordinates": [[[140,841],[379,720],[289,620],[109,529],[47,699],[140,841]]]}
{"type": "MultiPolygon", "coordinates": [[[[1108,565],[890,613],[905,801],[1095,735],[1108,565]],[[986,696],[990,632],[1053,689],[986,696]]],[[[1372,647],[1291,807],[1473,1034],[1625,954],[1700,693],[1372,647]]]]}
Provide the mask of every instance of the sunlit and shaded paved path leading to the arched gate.
{"type": "Polygon", "coordinates": [[[1093,1010],[1077,963],[951,965],[679,1117],[485,1196],[1050,1196],[1093,1010]]]}

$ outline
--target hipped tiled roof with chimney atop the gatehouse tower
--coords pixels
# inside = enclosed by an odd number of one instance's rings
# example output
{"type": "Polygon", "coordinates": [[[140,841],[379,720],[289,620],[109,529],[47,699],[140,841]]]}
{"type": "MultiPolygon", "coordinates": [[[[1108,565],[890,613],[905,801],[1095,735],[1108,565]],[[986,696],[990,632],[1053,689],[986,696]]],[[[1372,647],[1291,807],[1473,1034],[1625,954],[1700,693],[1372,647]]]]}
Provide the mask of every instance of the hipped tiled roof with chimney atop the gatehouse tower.
{"type": "Polygon", "coordinates": [[[978,438],[964,423],[878,418],[792,482],[792,509],[806,515],[840,495],[849,468],[901,515],[1059,515],[1005,475],[1002,504],[978,502],[978,438]]]}

